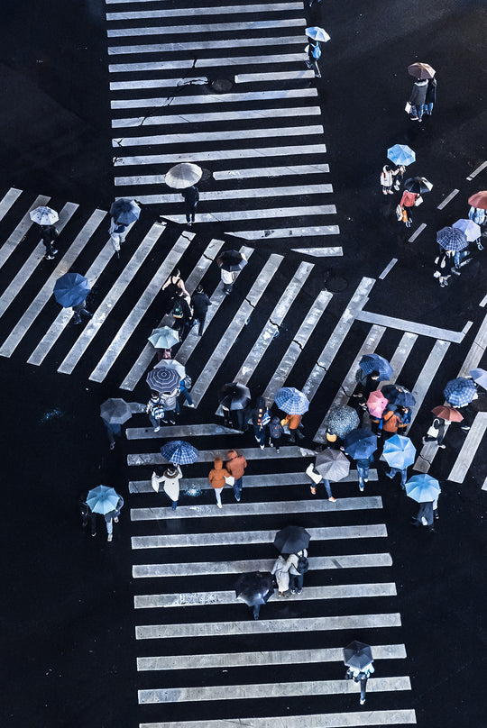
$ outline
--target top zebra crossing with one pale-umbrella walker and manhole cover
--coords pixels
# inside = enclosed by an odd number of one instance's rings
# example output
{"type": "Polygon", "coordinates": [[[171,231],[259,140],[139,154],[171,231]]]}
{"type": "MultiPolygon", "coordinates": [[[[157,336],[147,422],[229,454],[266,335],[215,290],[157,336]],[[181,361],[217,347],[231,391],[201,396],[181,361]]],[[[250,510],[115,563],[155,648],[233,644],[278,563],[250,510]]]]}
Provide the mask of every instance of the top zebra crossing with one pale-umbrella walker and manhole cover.
{"type": "Polygon", "coordinates": [[[182,197],[164,175],[196,162],[197,223],[248,241],[306,237],[324,247],[339,227],[335,205],[324,204],[333,186],[304,4],[166,5],[106,2],[118,195],[183,223],[182,197]]]}

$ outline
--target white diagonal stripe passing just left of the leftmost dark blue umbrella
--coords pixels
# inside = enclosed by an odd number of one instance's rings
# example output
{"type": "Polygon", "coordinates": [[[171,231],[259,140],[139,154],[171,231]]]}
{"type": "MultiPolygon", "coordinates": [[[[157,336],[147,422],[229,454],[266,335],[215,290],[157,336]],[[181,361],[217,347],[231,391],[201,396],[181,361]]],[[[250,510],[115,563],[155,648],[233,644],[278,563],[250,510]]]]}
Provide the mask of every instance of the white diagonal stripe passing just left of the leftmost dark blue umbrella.
{"type": "Polygon", "coordinates": [[[60,262],[52,271],[51,276],[46,280],[37,296],[33,299],[32,304],[28,306],[23,316],[5,339],[0,348],[0,356],[12,356],[20,341],[23,340],[24,335],[32,326],[32,323],[41,314],[42,309],[51,299],[52,290],[57,279],[69,271],[69,268],[71,268],[74,261],[78,258],[79,253],[81,250],[84,250],[87,242],[91,239],[96,228],[105,217],[106,212],[104,210],[95,210],[91,215],[81,232],[78,233],[76,240],[70,245],[69,250],[64,253],[62,259],[60,259],[60,262]]]}

